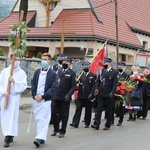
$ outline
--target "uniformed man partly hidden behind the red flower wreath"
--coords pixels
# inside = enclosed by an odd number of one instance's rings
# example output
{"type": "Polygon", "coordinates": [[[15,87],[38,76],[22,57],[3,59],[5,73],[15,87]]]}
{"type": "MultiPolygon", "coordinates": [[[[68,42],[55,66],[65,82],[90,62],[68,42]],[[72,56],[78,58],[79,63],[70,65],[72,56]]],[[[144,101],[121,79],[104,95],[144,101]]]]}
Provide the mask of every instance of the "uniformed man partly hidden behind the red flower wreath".
{"type": "MultiPolygon", "coordinates": [[[[118,62],[118,78],[120,81],[126,81],[129,78],[129,75],[125,72],[126,64],[124,62],[118,62]]],[[[125,106],[121,104],[118,108],[115,109],[117,116],[119,117],[117,126],[121,126],[124,118],[125,106]]],[[[112,122],[114,122],[114,113],[112,114],[112,122]]]]}

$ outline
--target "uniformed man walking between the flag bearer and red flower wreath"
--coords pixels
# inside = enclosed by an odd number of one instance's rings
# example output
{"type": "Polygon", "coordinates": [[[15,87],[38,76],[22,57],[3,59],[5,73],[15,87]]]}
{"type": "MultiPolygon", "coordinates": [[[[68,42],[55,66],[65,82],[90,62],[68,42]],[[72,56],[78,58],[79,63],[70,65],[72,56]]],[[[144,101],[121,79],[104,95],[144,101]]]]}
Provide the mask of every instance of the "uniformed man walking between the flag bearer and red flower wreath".
{"type": "Polygon", "coordinates": [[[111,126],[112,105],[118,83],[118,72],[111,67],[111,62],[112,60],[110,58],[104,58],[104,69],[100,71],[96,81],[96,90],[94,95],[97,95],[98,112],[95,117],[94,124],[91,125],[91,127],[96,130],[99,130],[104,106],[107,111],[107,117],[103,130],[109,130],[111,126]]]}

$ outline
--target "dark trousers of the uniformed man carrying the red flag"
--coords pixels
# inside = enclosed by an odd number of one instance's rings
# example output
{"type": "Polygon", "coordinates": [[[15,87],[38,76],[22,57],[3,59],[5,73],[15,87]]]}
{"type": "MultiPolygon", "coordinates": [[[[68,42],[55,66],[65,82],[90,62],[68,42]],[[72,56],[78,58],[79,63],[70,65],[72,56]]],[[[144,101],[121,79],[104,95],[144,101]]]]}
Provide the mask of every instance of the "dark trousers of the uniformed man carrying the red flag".
{"type": "Polygon", "coordinates": [[[91,116],[92,116],[92,102],[88,99],[79,99],[76,100],[76,110],[75,114],[73,116],[72,123],[79,125],[82,108],[85,106],[85,115],[84,115],[84,121],[85,125],[89,126],[91,123],[91,116]]]}

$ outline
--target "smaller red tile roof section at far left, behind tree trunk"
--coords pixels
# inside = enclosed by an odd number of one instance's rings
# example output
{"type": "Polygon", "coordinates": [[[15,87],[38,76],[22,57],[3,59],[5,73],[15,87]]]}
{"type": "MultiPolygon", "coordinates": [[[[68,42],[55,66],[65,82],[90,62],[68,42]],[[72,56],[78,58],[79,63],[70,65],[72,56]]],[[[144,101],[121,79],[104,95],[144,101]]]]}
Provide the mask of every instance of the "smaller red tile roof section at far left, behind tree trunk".
{"type": "MultiPolygon", "coordinates": [[[[36,11],[29,11],[27,13],[27,24],[30,22],[32,17],[36,14],[36,11]]],[[[8,17],[0,21],[0,37],[8,36],[10,34],[10,26],[18,22],[19,13],[13,12],[8,17]]]]}

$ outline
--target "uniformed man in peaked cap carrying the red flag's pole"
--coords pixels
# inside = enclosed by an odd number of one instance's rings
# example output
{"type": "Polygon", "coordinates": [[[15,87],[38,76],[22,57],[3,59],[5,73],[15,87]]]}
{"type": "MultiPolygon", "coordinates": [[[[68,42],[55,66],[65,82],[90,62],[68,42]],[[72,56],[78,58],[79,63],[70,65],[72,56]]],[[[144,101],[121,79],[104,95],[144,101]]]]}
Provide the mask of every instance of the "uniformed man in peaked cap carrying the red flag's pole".
{"type": "Polygon", "coordinates": [[[83,71],[79,79],[78,99],[76,100],[76,110],[70,126],[78,127],[82,108],[85,106],[84,122],[85,128],[88,128],[91,122],[92,102],[94,98],[96,75],[89,71],[90,63],[84,62],[82,64],[83,71]]]}

